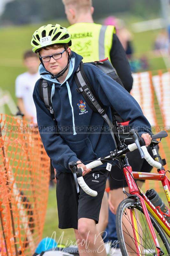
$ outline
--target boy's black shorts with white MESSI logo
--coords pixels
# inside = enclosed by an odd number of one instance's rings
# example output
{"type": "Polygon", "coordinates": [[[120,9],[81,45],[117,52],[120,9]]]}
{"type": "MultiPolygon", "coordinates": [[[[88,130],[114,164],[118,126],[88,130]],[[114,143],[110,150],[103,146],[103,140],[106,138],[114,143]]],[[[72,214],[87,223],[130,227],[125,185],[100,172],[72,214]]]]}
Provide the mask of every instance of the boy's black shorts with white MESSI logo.
{"type": "Polygon", "coordinates": [[[101,201],[105,191],[107,171],[95,168],[84,177],[86,184],[96,190],[96,197],[87,195],[82,188],[77,194],[72,173],[57,172],[56,197],[58,207],[59,228],[78,228],[78,219],[88,218],[99,221],[101,201]]]}

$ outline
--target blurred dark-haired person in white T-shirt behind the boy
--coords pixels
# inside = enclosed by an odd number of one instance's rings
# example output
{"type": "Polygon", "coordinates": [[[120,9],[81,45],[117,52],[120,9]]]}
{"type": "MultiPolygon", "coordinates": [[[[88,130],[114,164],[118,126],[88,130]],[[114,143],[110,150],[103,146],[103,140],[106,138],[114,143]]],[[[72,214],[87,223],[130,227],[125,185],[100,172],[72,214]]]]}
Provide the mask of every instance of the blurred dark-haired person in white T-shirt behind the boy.
{"type": "Polygon", "coordinates": [[[24,52],[23,60],[27,71],[17,76],[15,80],[17,105],[27,121],[37,123],[33,89],[36,81],[40,78],[38,73],[40,60],[32,50],[24,52]]]}

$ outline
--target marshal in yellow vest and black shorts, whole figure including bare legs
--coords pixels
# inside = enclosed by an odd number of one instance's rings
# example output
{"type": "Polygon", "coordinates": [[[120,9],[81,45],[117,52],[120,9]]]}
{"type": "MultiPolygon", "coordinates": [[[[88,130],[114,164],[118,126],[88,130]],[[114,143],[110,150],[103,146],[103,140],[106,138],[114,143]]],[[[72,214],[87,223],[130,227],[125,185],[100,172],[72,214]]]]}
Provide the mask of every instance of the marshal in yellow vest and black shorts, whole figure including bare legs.
{"type": "MultiPolygon", "coordinates": [[[[83,62],[91,62],[96,60],[103,60],[108,57],[113,67],[115,68],[118,76],[120,77],[125,89],[130,92],[132,89],[133,78],[126,53],[120,43],[114,26],[104,26],[96,24],[93,21],[92,14],[94,8],[92,7],[92,0],[62,0],[65,7],[65,14],[70,23],[67,28],[71,34],[72,50],[83,56],[83,62]]],[[[124,127],[127,124],[121,123],[124,127]]],[[[134,169],[138,166],[140,171],[150,172],[152,167],[146,165],[140,155],[129,154],[129,163],[134,169]],[[137,164],[136,164],[137,162],[137,164]],[[144,169],[144,170],[143,170],[144,169]]],[[[123,200],[122,193],[122,173],[120,169],[114,166],[113,177],[116,179],[110,179],[110,208],[112,212],[116,212],[118,204],[123,200]]],[[[138,171],[135,170],[134,171],[138,171]]],[[[125,182],[126,183],[126,182],[125,182]]],[[[140,182],[141,183],[141,182],[140,182]]],[[[141,186],[141,184],[138,184],[141,186]]],[[[127,183],[125,187],[127,187],[127,183]]],[[[127,188],[126,188],[127,189],[127,188]]],[[[104,194],[99,223],[97,228],[99,233],[105,230],[108,221],[108,206],[107,195],[104,194]]],[[[112,214],[113,215],[113,214],[112,214]]],[[[113,223],[112,223],[113,224],[113,223]]],[[[112,233],[114,225],[112,227],[112,233]]],[[[104,234],[105,236],[105,234],[104,234]]],[[[112,236],[112,242],[116,239],[116,236],[112,236]],[[114,237],[114,239],[113,239],[114,237]]],[[[105,240],[107,241],[107,240],[105,240]]],[[[115,242],[115,241],[114,241],[115,242]]],[[[131,241],[129,241],[130,244],[131,241]]],[[[117,252],[119,253],[119,252],[117,252]]]]}

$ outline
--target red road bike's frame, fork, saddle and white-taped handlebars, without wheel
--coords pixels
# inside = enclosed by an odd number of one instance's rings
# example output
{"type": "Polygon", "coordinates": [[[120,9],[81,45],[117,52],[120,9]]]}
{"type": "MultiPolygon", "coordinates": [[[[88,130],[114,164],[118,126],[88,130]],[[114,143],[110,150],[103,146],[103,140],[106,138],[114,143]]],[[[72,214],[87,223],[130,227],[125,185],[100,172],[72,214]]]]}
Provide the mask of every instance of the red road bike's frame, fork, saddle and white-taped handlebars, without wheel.
{"type": "MultiPolygon", "coordinates": [[[[115,159],[115,158],[118,159],[119,158],[119,161],[122,162],[123,173],[124,173],[124,176],[126,178],[126,181],[127,181],[128,187],[129,187],[129,193],[127,193],[125,191],[125,189],[123,189],[123,192],[128,196],[128,198],[132,198],[132,199],[136,200],[136,203],[134,203],[135,206],[133,207],[133,204],[132,204],[132,207],[129,208],[129,211],[130,211],[130,216],[131,216],[131,221],[132,221],[132,228],[133,228],[133,234],[134,234],[134,241],[135,241],[135,245],[136,245],[137,256],[140,256],[142,254],[141,248],[140,248],[140,240],[139,240],[139,236],[138,236],[139,233],[137,231],[137,225],[138,224],[137,224],[137,219],[135,218],[135,214],[136,214],[135,213],[135,207],[137,207],[137,205],[140,205],[140,208],[142,208],[142,210],[143,210],[143,213],[145,215],[148,227],[150,229],[150,232],[151,232],[151,235],[152,235],[152,238],[153,238],[153,242],[154,242],[155,247],[157,249],[157,255],[163,255],[163,252],[161,251],[161,248],[159,246],[159,242],[158,242],[157,236],[155,234],[154,228],[152,226],[152,221],[150,219],[149,212],[154,217],[154,219],[157,220],[157,222],[160,224],[160,226],[163,228],[163,230],[165,231],[165,233],[169,237],[170,237],[170,223],[168,223],[167,220],[164,218],[164,216],[162,215],[162,212],[158,211],[158,209],[160,210],[160,208],[155,207],[151,203],[151,201],[145,196],[145,194],[142,192],[142,190],[140,188],[138,188],[134,179],[160,180],[162,182],[168,204],[170,205],[170,180],[167,178],[165,169],[163,167],[166,164],[166,161],[165,161],[165,159],[164,160],[161,159],[161,157],[158,153],[158,149],[156,147],[156,144],[158,144],[160,141],[159,142],[152,141],[152,143],[150,145],[151,149],[152,149],[152,153],[153,153],[153,158],[152,158],[149,155],[149,153],[147,151],[147,148],[145,146],[140,147],[139,138],[137,137],[137,134],[136,134],[135,130],[133,130],[133,129],[130,130],[129,134],[133,138],[135,143],[130,144],[128,146],[126,146],[125,144],[122,144],[121,145],[122,147],[120,146],[120,148],[118,148],[117,150],[115,149],[115,151],[111,151],[110,155],[102,157],[102,158],[98,158],[97,160],[92,161],[91,163],[87,164],[86,167],[90,168],[90,169],[93,169],[97,166],[100,166],[100,165],[104,164],[105,161],[107,161],[107,162],[112,161],[113,162],[113,159],[115,159]],[[142,158],[145,158],[146,161],[151,166],[154,166],[154,167],[157,168],[158,173],[132,172],[132,167],[128,163],[128,158],[126,157],[126,153],[128,153],[129,151],[133,151],[136,148],[139,149],[142,158]]],[[[166,136],[167,136],[166,132],[164,132],[163,134],[158,133],[158,134],[155,135],[155,138],[153,136],[153,139],[164,138],[166,136]]],[[[141,138],[140,138],[140,141],[142,142],[141,138]]],[[[142,143],[144,143],[144,142],[142,142],[142,143]]],[[[77,192],[79,193],[79,185],[80,185],[80,187],[88,195],[97,196],[97,191],[92,190],[91,188],[89,188],[88,185],[83,180],[83,178],[82,178],[83,168],[80,167],[80,168],[77,169],[77,164],[74,163],[74,162],[69,163],[69,168],[73,172],[75,182],[76,182],[77,192]]],[[[109,166],[108,166],[108,168],[109,168],[109,166]]],[[[133,200],[132,200],[132,202],[133,202],[133,200]]],[[[123,201],[122,201],[122,203],[123,203],[123,201]]],[[[164,215],[167,215],[167,214],[164,214],[164,215]]],[[[169,214],[167,216],[170,217],[170,209],[169,209],[169,214]]],[[[156,254],[154,253],[154,255],[156,255],[156,254]]]]}

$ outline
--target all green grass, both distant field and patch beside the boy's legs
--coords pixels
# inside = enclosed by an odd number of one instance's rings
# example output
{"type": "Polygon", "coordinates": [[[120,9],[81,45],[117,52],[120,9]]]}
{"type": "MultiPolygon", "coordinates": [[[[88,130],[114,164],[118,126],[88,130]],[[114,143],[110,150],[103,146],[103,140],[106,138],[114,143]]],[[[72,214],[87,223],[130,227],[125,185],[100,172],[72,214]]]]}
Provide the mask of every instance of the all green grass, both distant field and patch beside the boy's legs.
{"type": "MultiPolygon", "coordinates": [[[[48,23],[55,24],[56,21],[50,21],[48,23]]],[[[57,21],[57,23],[62,24],[62,26],[67,26],[66,21],[57,21]]],[[[25,68],[22,64],[22,55],[23,52],[31,49],[30,41],[32,38],[33,32],[43,24],[34,24],[27,26],[18,26],[18,27],[5,27],[0,28],[1,34],[1,47],[0,47],[0,69],[1,69],[1,85],[0,87],[3,90],[8,90],[11,93],[11,96],[16,102],[15,99],[15,79],[16,77],[25,72],[25,68]]],[[[147,31],[143,33],[135,33],[133,35],[134,48],[138,56],[152,50],[153,41],[156,33],[158,31],[147,31]]],[[[153,56],[152,56],[153,57],[153,56]]],[[[165,69],[164,60],[161,57],[149,58],[149,69],[156,70],[165,69]]],[[[6,108],[7,114],[10,114],[9,109],[6,108]]],[[[161,195],[162,193],[160,193],[161,195]]],[[[53,232],[56,232],[56,241],[62,235],[63,230],[58,229],[58,218],[57,218],[57,206],[56,206],[56,196],[55,189],[49,190],[48,198],[48,208],[46,213],[46,222],[44,226],[43,237],[51,237],[53,232]]],[[[54,234],[53,234],[54,235],[54,234]]],[[[54,236],[53,236],[54,238],[54,236]]],[[[66,243],[67,240],[73,240],[74,232],[71,229],[64,230],[63,243],[66,243]]]]}

